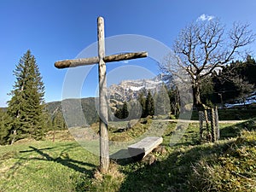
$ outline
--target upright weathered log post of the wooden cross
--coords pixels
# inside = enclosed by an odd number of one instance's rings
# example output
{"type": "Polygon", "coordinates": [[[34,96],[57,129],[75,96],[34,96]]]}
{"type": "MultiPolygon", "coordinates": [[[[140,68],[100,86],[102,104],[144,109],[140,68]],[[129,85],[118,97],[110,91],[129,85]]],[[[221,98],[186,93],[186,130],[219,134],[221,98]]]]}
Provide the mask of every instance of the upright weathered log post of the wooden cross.
{"type": "Polygon", "coordinates": [[[107,76],[104,40],[104,20],[99,17],[98,24],[98,57],[99,57],[99,116],[100,116],[100,169],[101,172],[107,172],[109,166],[109,148],[108,148],[108,101],[107,101],[107,76]]]}

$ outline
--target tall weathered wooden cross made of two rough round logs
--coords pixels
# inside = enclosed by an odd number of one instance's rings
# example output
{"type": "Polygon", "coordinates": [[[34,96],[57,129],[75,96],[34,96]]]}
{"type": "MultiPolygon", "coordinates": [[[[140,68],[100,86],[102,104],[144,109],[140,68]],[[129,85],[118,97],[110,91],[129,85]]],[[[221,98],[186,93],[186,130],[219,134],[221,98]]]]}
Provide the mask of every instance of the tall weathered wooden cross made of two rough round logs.
{"type": "Polygon", "coordinates": [[[100,116],[100,169],[107,172],[109,166],[108,148],[108,102],[107,102],[107,79],[105,62],[124,61],[136,58],[147,57],[147,52],[126,53],[105,56],[104,19],[97,19],[98,56],[91,58],[56,61],[55,67],[78,67],[98,63],[99,73],[99,116],[100,116]]]}

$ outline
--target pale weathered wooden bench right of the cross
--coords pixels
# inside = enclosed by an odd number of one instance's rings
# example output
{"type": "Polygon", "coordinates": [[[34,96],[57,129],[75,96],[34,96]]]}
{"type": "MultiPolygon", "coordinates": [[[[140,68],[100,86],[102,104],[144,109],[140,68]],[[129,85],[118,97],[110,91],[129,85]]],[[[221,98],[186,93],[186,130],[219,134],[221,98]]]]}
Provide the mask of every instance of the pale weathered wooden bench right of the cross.
{"type": "Polygon", "coordinates": [[[131,157],[135,160],[143,160],[154,148],[163,142],[162,137],[145,137],[138,143],[128,146],[131,157]]]}

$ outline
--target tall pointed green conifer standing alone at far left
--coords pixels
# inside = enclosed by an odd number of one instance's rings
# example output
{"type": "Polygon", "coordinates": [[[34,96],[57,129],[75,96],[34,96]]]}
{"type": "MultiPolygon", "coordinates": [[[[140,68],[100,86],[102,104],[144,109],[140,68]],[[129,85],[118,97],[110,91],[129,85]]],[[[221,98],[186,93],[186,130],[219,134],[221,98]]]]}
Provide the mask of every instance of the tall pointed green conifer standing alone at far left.
{"type": "Polygon", "coordinates": [[[14,75],[16,78],[7,113],[12,118],[9,141],[32,137],[40,139],[44,134],[44,83],[35,57],[30,50],[20,58],[14,75]]]}

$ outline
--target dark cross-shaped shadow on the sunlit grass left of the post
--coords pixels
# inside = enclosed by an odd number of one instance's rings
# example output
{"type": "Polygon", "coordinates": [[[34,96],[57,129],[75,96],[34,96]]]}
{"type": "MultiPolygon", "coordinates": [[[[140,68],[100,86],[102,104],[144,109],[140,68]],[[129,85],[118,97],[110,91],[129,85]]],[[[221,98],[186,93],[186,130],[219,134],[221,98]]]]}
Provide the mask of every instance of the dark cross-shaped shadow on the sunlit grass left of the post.
{"type": "MultiPolygon", "coordinates": [[[[42,158],[33,157],[33,158],[30,158],[29,160],[53,161],[53,162],[61,164],[62,166],[67,166],[68,168],[71,168],[76,172],[86,173],[88,175],[92,175],[92,172],[91,172],[91,170],[87,170],[86,168],[84,168],[84,166],[90,166],[90,167],[96,168],[96,166],[93,164],[86,163],[86,162],[83,162],[80,160],[71,159],[68,156],[68,154],[65,153],[65,151],[67,151],[67,149],[61,151],[61,154],[55,158],[55,157],[51,156],[50,154],[47,154],[46,152],[44,152],[45,150],[49,150],[52,148],[35,148],[32,146],[29,146],[29,148],[32,148],[32,149],[26,150],[26,151],[20,151],[20,153],[36,152],[42,156],[42,158]]],[[[26,158],[20,158],[20,159],[26,159],[26,158]]]]}

